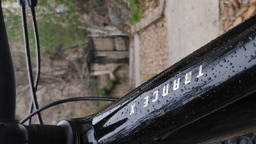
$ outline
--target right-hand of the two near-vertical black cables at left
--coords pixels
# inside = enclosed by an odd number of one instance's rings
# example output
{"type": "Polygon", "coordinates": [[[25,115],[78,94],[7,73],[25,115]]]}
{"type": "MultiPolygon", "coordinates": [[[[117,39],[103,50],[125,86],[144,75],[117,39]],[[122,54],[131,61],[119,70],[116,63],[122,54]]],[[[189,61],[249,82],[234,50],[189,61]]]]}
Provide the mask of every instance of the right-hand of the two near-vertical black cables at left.
{"type": "MultiPolygon", "coordinates": [[[[30,13],[32,16],[33,28],[34,28],[34,34],[35,34],[35,43],[36,43],[36,78],[35,78],[35,84],[34,84],[35,91],[36,91],[38,87],[39,78],[40,78],[40,72],[41,72],[41,61],[40,61],[41,58],[40,58],[40,42],[38,38],[35,7],[30,8],[30,13]]],[[[33,104],[34,104],[33,99],[31,99],[29,114],[33,112],[33,109],[34,109],[33,104]]],[[[31,118],[29,118],[28,124],[31,124],[31,118]]]]}

